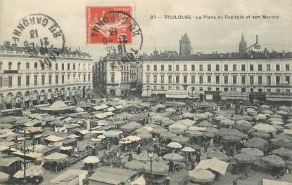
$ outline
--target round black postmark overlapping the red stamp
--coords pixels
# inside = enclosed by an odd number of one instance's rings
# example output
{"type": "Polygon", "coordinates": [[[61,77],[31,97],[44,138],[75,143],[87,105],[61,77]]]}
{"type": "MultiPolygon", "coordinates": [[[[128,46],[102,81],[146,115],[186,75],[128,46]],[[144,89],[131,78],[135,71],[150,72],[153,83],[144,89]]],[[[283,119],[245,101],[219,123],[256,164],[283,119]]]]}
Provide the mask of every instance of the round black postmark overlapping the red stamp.
{"type": "Polygon", "coordinates": [[[99,36],[108,54],[120,54],[125,62],[135,60],[143,46],[141,27],[125,11],[103,12],[91,25],[91,36],[99,36]]]}

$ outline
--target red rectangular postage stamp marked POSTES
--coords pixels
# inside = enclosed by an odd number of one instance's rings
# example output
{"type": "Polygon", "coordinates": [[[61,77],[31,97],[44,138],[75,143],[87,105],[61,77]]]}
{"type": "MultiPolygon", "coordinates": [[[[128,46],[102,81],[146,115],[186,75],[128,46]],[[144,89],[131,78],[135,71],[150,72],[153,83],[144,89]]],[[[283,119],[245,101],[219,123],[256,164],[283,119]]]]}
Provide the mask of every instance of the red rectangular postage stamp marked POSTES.
{"type": "Polygon", "coordinates": [[[87,43],[132,43],[132,6],[87,6],[87,43]],[[129,15],[129,16],[127,16],[129,15]]]}

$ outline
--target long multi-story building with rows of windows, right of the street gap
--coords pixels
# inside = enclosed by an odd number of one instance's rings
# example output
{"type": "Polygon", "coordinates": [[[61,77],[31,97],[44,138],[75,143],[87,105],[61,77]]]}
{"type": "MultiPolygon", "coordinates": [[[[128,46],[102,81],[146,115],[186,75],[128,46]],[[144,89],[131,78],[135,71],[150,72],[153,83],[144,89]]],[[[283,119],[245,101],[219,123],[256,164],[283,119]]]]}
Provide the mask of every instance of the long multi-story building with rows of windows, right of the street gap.
{"type": "Polygon", "coordinates": [[[151,55],[144,58],[143,69],[144,95],[221,92],[226,99],[248,100],[250,93],[265,93],[268,100],[292,100],[291,53],[151,55]]]}

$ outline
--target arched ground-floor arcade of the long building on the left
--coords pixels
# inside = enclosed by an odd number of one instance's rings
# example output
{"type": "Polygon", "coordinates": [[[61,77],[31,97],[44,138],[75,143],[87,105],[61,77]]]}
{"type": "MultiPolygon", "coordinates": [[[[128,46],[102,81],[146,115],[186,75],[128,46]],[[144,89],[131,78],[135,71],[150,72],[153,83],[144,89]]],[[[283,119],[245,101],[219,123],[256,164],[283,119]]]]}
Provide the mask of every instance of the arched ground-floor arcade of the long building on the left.
{"type": "Polygon", "coordinates": [[[13,107],[31,107],[38,104],[51,104],[56,100],[70,100],[77,103],[82,99],[90,99],[92,85],[59,85],[47,88],[30,88],[0,91],[0,109],[13,107]]]}

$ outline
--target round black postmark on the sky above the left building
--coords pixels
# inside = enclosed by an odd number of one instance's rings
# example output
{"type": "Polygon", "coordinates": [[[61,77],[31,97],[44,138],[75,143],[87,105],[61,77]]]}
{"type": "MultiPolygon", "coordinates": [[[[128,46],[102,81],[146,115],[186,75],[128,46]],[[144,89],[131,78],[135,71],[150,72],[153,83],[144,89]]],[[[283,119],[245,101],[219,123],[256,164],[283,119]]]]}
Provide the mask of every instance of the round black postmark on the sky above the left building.
{"type": "Polygon", "coordinates": [[[53,18],[42,13],[33,13],[21,19],[13,29],[12,40],[17,46],[25,48],[31,57],[45,56],[39,60],[42,67],[50,67],[65,48],[61,27],[53,18]]]}

